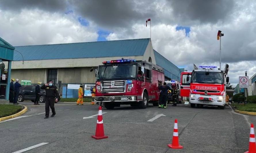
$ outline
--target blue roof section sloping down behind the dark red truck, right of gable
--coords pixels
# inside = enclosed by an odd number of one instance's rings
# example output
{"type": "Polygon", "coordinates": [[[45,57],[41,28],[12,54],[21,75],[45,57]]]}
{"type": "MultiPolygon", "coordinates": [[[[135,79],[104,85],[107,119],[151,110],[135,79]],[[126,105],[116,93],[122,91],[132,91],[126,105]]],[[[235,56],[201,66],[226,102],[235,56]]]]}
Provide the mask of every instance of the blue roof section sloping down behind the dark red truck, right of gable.
{"type": "Polygon", "coordinates": [[[156,65],[163,67],[163,69],[165,71],[165,76],[170,79],[177,79],[179,81],[180,80],[180,71],[182,69],[179,69],[176,65],[171,63],[168,59],[163,57],[161,54],[159,54],[155,50],[154,50],[154,55],[155,55],[155,59],[156,59],[156,65]]]}

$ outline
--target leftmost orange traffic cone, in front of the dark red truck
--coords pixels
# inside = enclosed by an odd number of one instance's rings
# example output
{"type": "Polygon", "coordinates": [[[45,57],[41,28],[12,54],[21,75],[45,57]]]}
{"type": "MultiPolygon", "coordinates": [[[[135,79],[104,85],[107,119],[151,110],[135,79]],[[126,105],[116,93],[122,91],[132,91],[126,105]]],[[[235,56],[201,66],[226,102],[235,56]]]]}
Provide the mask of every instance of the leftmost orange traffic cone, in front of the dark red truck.
{"type": "Polygon", "coordinates": [[[99,106],[99,111],[98,111],[96,132],[95,132],[95,135],[92,135],[91,137],[94,138],[94,139],[97,139],[97,140],[108,138],[108,136],[104,135],[102,107],[101,106],[99,106]]]}

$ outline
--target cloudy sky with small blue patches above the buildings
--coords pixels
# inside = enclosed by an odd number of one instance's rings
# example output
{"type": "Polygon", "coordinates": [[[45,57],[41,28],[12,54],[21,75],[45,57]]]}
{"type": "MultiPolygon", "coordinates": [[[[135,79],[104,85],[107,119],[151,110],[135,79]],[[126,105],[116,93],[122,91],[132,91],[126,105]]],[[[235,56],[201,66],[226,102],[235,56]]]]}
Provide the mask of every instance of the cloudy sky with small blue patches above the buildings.
{"type": "Polygon", "coordinates": [[[149,38],[178,67],[230,64],[230,82],[256,73],[251,0],[1,0],[0,37],[13,46],[149,38]]]}

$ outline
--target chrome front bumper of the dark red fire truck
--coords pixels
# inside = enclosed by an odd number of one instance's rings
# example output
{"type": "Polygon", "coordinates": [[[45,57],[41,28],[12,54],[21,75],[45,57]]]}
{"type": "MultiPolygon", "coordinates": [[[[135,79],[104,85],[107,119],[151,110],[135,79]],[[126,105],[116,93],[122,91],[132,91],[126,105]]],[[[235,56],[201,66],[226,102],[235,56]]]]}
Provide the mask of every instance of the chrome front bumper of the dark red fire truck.
{"type": "Polygon", "coordinates": [[[92,97],[92,102],[137,102],[137,96],[100,96],[100,97],[92,97]]]}

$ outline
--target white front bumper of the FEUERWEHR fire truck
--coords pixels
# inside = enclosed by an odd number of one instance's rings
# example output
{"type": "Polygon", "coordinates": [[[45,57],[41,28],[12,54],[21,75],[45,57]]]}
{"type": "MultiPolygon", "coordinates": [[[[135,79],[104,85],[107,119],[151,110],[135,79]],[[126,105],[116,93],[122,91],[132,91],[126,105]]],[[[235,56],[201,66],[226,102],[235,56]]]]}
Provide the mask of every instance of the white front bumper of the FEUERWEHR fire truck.
{"type": "Polygon", "coordinates": [[[218,95],[200,95],[200,94],[190,94],[189,102],[191,104],[204,104],[204,105],[215,105],[215,106],[225,106],[225,98],[218,95]]]}

